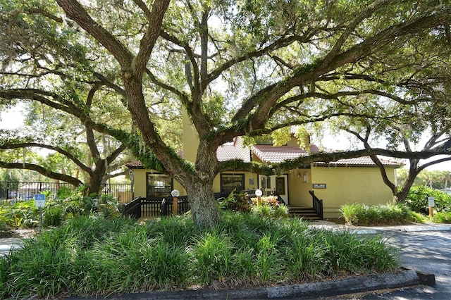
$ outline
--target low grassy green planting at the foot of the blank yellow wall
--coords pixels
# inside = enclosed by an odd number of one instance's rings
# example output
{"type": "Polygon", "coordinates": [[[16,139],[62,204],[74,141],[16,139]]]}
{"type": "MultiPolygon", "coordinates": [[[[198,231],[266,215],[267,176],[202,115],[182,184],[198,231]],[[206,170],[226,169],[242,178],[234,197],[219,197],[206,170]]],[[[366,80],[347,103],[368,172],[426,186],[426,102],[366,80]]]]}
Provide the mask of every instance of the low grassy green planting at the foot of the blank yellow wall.
{"type": "Polygon", "coordinates": [[[415,221],[412,211],[401,204],[346,204],[341,206],[340,211],[346,223],[357,226],[395,225],[415,221]]]}

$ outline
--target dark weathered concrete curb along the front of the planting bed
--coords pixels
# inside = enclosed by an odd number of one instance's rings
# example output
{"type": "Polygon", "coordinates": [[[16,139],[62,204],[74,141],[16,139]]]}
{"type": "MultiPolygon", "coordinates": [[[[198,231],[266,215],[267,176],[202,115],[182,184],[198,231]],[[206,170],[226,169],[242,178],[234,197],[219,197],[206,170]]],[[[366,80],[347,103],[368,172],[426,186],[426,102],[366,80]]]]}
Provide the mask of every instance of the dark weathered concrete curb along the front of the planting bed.
{"type": "MultiPolygon", "coordinates": [[[[338,296],[342,294],[375,291],[378,289],[411,287],[414,285],[435,285],[435,275],[424,273],[419,270],[413,270],[411,268],[401,268],[401,270],[393,273],[309,282],[301,285],[249,289],[198,289],[174,292],[142,292],[136,294],[111,295],[104,297],[104,299],[312,299],[319,296],[338,296]]],[[[70,297],[66,299],[99,298],[70,297]]]]}

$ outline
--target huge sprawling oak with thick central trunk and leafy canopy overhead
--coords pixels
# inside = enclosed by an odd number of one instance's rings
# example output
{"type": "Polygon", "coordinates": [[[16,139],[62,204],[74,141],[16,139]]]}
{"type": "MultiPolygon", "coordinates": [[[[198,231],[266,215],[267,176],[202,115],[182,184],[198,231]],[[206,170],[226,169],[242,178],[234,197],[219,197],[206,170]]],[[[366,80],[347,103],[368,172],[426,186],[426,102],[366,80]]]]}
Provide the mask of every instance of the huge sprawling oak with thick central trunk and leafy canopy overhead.
{"type": "Polygon", "coordinates": [[[307,133],[371,127],[391,138],[387,149],[315,154],[278,169],[367,154],[447,154],[397,149],[389,129],[449,138],[447,1],[1,3],[1,99],[36,101],[123,142],[185,187],[199,226],[218,221],[218,173],[271,172],[217,161],[218,146],[237,136],[298,125],[307,133]],[[121,113],[120,123],[104,118],[106,106],[121,113]],[[199,136],[194,162],[177,154],[159,122],[183,112],[199,136]]]}

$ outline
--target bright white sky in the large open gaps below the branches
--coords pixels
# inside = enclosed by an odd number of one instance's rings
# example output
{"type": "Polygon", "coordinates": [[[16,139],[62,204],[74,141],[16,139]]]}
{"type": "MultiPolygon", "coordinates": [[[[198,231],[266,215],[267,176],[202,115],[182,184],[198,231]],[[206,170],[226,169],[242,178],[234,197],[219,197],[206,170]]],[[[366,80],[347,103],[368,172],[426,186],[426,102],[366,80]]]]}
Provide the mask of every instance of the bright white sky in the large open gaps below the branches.
{"type": "MultiPolygon", "coordinates": [[[[23,124],[23,108],[14,107],[8,109],[8,111],[4,111],[0,113],[0,129],[15,129],[20,127],[23,124]]],[[[329,149],[350,149],[352,147],[352,143],[350,139],[345,136],[330,136],[325,135],[321,140],[321,145],[329,148],[329,149]]],[[[438,159],[438,158],[435,158],[438,159]]],[[[422,161],[422,163],[426,163],[426,161],[422,161]]],[[[443,170],[443,171],[451,171],[451,161],[447,163],[438,163],[436,165],[432,165],[428,167],[427,170],[443,170]]]]}

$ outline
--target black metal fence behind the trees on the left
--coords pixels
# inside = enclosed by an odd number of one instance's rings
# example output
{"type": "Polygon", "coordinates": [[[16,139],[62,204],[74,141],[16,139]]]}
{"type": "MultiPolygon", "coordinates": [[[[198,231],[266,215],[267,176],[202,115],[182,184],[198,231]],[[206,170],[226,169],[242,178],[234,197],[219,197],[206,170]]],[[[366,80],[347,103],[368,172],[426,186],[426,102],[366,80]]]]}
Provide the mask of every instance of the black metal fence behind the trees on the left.
{"type": "MultiPolygon", "coordinates": [[[[5,201],[27,201],[34,199],[35,194],[50,191],[56,193],[58,189],[67,187],[75,189],[73,185],[67,182],[6,182],[0,181],[0,204],[5,201]]],[[[133,199],[133,190],[131,184],[121,183],[105,183],[100,194],[111,194],[115,196],[121,203],[127,203],[133,199]]]]}

